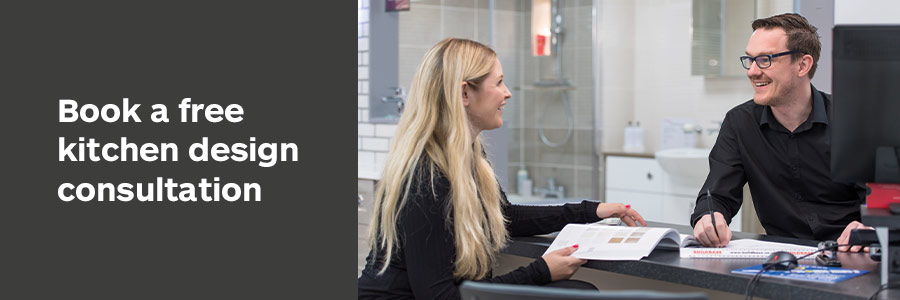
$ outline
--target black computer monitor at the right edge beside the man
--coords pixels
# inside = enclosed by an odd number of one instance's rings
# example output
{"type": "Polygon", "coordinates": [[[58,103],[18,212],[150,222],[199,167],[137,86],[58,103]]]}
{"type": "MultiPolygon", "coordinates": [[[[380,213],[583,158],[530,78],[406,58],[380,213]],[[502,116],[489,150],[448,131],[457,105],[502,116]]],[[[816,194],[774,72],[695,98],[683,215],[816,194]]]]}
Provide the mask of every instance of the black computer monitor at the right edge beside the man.
{"type": "Polygon", "coordinates": [[[833,50],[832,180],[900,183],[900,25],[835,26],[833,50]]]}

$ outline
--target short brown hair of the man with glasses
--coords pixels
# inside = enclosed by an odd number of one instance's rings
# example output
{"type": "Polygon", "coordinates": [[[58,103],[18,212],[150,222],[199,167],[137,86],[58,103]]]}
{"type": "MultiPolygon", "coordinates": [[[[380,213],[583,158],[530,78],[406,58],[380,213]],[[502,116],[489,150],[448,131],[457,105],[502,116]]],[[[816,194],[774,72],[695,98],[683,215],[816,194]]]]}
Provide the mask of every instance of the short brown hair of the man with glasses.
{"type": "MultiPolygon", "coordinates": [[[[806,18],[795,13],[786,13],[764,19],[756,19],[753,21],[752,26],[754,31],[759,28],[784,29],[788,36],[788,50],[801,51],[813,57],[813,65],[809,69],[809,78],[812,79],[813,75],[816,74],[816,67],[819,65],[819,53],[822,52],[822,42],[819,41],[819,34],[816,33],[818,29],[809,24],[806,18]]],[[[803,53],[792,54],[791,61],[803,57],[803,53]]]]}

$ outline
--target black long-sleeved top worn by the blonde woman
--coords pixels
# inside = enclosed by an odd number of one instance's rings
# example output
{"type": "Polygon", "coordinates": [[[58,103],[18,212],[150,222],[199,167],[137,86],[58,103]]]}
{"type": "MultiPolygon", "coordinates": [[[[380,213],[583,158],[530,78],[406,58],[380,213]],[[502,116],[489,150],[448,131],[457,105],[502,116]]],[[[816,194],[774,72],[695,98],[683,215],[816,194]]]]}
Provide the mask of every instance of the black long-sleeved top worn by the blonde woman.
{"type": "MultiPolygon", "coordinates": [[[[450,209],[450,182],[439,172],[434,180],[421,163],[413,176],[407,204],[397,218],[400,246],[394,250],[390,266],[378,275],[383,251],[371,251],[357,283],[360,299],[459,299],[459,284],[453,278],[456,248],[447,220],[450,209]],[[432,184],[433,183],[433,184],[432,184]],[[433,189],[432,189],[433,187],[433,189]],[[375,259],[373,259],[375,256],[375,259]],[[374,262],[378,262],[377,264],[374,262]]],[[[512,205],[503,197],[503,215],[510,236],[545,234],[570,222],[596,222],[598,203],[582,201],[563,206],[512,205]]],[[[487,282],[542,285],[550,282],[550,270],[542,258],[487,282]]]]}

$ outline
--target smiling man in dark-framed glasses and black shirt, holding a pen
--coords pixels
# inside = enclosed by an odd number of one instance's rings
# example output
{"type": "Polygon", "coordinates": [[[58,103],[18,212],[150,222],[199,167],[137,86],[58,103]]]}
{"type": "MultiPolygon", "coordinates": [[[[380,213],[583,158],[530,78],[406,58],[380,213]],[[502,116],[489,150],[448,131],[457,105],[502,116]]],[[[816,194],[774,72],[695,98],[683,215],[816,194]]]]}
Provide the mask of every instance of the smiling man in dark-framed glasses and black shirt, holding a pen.
{"type": "Polygon", "coordinates": [[[726,221],[741,208],[749,183],[767,234],[846,244],[850,230],[865,228],[862,200],[853,185],[831,181],[831,95],[810,83],[822,47],[816,27],[793,13],[752,27],[740,61],[753,99],[725,115],[691,215],[694,237],[705,246],[727,245],[726,221]]]}

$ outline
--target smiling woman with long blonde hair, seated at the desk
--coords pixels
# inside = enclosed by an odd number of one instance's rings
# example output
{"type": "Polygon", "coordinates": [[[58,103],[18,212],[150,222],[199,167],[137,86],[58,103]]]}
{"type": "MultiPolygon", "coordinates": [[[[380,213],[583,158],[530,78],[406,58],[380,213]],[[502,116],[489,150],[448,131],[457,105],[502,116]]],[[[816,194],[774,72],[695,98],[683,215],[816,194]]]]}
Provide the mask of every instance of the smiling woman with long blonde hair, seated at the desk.
{"type": "Polygon", "coordinates": [[[358,281],[359,298],[459,299],[463,280],[545,285],[568,279],[585,263],[569,256],[578,245],[494,277],[495,255],[509,236],[607,217],[646,225],[623,204],[510,204],[480,136],[503,124],[510,97],[497,54],[487,46],[450,38],[425,54],[376,186],[373,250],[358,281]]]}

